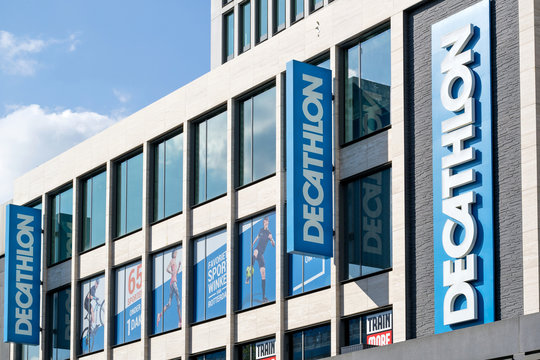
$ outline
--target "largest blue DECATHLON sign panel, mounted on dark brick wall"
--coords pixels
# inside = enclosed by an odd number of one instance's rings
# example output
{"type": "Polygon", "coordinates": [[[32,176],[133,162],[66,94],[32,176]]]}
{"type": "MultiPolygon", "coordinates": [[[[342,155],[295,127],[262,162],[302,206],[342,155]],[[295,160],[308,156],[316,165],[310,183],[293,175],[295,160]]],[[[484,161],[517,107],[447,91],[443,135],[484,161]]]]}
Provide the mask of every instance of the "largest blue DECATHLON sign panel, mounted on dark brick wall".
{"type": "Polygon", "coordinates": [[[489,1],[432,26],[435,333],[494,321],[489,1]]]}

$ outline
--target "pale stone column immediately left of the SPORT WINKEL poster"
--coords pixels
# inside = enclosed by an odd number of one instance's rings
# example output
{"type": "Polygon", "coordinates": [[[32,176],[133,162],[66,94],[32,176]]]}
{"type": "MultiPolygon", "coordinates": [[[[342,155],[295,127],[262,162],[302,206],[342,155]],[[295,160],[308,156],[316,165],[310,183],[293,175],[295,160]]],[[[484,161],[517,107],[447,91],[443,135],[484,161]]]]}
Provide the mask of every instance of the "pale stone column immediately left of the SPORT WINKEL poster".
{"type": "Polygon", "coordinates": [[[183,240],[182,240],[182,330],[180,332],[181,336],[184,340],[184,348],[181,351],[182,359],[188,359],[189,354],[191,352],[191,325],[190,325],[190,318],[191,318],[191,309],[190,306],[191,300],[189,296],[191,295],[188,292],[188,288],[190,291],[193,290],[193,287],[191,286],[191,273],[193,269],[193,264],[191,262],[191,235],[193,234],[193,220],[192,220],[192,211],[191,211],[191,193],[192,193],[192,185],[191,185],[191,179],[193,178],[191,175],[191,169],[192,167],[192,161],[193,161],[193,146],[191,144],[192,140],[192,134],[191,134],[191,123],[188,121],[184,122],[184,171],[183,171],[183,182],[184,187],[182,189],[183,193],[183,213],[184,213],[184,234],[183,234],[183,240]]]}

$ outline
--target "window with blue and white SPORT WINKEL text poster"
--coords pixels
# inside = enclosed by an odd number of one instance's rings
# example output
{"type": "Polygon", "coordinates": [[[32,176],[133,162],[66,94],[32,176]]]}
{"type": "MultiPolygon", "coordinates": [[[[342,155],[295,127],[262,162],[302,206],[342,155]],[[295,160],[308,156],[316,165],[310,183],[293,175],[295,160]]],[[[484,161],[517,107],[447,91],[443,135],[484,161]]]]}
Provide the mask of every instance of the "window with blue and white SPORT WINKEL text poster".
{"type": "Polygon", "coordinates": [[[227,232],[198,238],[193,249],[194,322],[225,315],[227,303],[227,232]]]}

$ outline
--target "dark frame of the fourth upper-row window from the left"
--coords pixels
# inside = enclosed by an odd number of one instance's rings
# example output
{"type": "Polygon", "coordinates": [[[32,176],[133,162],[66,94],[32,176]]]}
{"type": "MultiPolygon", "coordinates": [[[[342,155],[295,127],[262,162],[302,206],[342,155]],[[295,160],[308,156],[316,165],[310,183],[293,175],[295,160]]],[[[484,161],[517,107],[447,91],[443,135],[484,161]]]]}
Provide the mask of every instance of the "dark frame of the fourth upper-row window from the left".
{"type": "MultiPolygon", "coordinates": [[[[150,150],[150,177],[149,177],[149,193],[150,193],[150,199],[151,199],[151,202],[150,202],[150,212],[149,212],[149,218],[150,218],[150,226],[152,225],[155,225],[155,224],[158,224],[162,221],[165,221],[167,219],[170,219],[172,217],[175,217],[177,215],[180,215],[184,212],[184,171],[185,171],[185,161],[184,161],[184,153],[186,152],[186,138],[185,138],[185,134],[184,134],[184,125],[180,125],[179,127],[175,128],[175,129],[172,129],[170,130],[169,132],[167,132],[165,135],[162,135],[162,136],[159,136],[158,138],[156,139],[153,139],[150,141],[149,143],[149,150],[150,150]],[[163,217],[162,218],[157,218],[157,215],[156,215],[156,201],[157,201],[157,197],[158,197],[158,194],[157,194],[157,191],[156,191],[156,172],[157,172],[157,165],[158,165],[158,161],[156,159],[156,156],[158,154],[158,146],[162,143],[165,143],[166,141],[169,141],[171,140],[172,138],[176,137],[180,135],[182,137],[182,179],[181,179],[181,183],[182,183],[182,189],[181,189],[181,193],[182,193],[182,202],[181,202],[181,209],[180,211],[176,211],[170,215],[165,215],[165,211],[163,212],[163,217]]],[[[167,156],[165,154],[165,156],[167,156]]],[[[166,170],[165,170],[166,171],[166,170]]],[[[163,179],[163,185],[164,185],[164,188],[163,188],[163,196],[165,197],[165,178],[163,179]]],[[[165,204],[163,204],[164,206],[165,204]]]]}

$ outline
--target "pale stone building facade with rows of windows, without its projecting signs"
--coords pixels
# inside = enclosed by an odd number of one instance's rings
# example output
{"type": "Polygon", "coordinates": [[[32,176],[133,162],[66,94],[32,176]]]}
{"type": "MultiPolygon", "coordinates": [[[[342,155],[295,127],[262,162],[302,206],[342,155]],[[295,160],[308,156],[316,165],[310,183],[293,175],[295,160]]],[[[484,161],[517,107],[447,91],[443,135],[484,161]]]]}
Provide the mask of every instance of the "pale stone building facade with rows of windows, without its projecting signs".
{"type": "MultiPolygon", "coordinates": [[[[13,203],[43,211],[42,330],[0,357],[540,358],[539,14],[533,0],[212,0],[209,73],[16,180],[13,203]],[[492,251],[465,284],[493,290],[476,298],[485,324],[447,331],[433,29],[482,4],[487,25],[443,46],[489,40],[451,63],[476,79],[482,127],[446,144],[490,141],[471,158],[490,170],[456,181],[492,183],[463,204],[489,211],[474,236],[492,251]],[[332,71],[332,258],[287,253],[290,60],[332,71]]],[[[472,266],[454,257],[451,271],[472,266]]]]}

